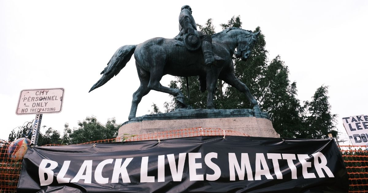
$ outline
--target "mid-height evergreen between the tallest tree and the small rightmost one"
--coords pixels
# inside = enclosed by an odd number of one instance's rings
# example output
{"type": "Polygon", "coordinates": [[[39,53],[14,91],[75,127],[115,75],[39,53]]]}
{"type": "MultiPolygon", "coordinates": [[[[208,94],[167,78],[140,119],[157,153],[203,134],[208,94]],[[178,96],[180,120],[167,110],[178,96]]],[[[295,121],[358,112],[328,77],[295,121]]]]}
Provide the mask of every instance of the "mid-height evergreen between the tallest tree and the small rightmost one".
{"type": "Polygon", "coordinates": [[[282,137],[298,137],[296,130],[304,128],[304,110],[297,99],[296,82],[290,84],[289,69],[280,56],[265,68],[258,84],[259,104],[270,114],[276,132],[282,137]]]}

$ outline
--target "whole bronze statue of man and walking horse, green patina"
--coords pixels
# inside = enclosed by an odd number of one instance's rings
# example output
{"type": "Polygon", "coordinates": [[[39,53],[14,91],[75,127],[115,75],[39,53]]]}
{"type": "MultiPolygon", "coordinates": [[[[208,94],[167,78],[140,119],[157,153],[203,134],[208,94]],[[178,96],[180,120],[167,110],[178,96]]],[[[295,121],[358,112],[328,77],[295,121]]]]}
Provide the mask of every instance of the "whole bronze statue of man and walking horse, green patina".
{"type": "MultiPolygon", "coordinates": [[[[177,109],[188,108],[184,101],[184,95],[179,89],[161,85],[160,80],[166,74],[184,77],[199,76],[200,90],[202,92],[208,91],[207,108],[212,109],[212,111],[198,110],[198,112],[201,111],[198,116],[204,116],[205,114],[207,116],[221,116],[220,112],[222,111],[214,110],[215,106],[213,104],[217,79],[223,80],[244,93],[253,108],[253,110],[250,110],[254,112],[252,115],[261,116],[262,112],[250,90],[234,75],[232,60],[235,49],[237,50],[235,53],[237,58],[241,58],[243,61],[248,60],[259,32],[252,33],[251,31],[232,27],[211,37],[193,27],[195,21],[191,12],[189,6],[182,7],[179,16],[180,33],[174,39],[156,37],[138,45],[120,47],[108,62],[107,67],[101,72],[103,76],[91,87],[89,92],[104,85],[113,76],[117,75],[134,54],[141,84],[133,94],[129,120],[135,118],[139,102],[150,90],[172,94],[176,97],[177,109]],[[199,40],[201,42],[198,42],[199,40]],[[201,46],[198,46],[199,44],[201,46]]],[[[186,116],[190,115],[192,111],[197,112],[196,110],[188,110],[172,113],[186,116]]],[[[171,114],[166,114],[166,116],[169,115],[171,114]]],[[[157,118],[160,118],[160,116],[163,115],[156,115],[157,118]]],[[[261,117],[266,118],[267,116],[261,117]]]]}

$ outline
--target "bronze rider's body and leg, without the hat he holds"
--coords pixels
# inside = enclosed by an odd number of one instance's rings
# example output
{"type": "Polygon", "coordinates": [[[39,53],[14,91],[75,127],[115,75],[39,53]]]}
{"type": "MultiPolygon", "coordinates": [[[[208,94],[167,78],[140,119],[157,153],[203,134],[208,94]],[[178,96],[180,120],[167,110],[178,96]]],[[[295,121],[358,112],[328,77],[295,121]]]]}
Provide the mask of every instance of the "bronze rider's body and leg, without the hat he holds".
{"type": "Polygon", "coordinates": [[[205,64],[207,66],[217,65],[222,66],[224,59],[219,56],[214,56],[212,51],[212,37],[200,31],[197,31],[197,24],[192,16],[192,9],[190,6],[181,7],[179,15],[179,36],[197,36],[202,41],[202,52],[204,55],[205,64]]]}

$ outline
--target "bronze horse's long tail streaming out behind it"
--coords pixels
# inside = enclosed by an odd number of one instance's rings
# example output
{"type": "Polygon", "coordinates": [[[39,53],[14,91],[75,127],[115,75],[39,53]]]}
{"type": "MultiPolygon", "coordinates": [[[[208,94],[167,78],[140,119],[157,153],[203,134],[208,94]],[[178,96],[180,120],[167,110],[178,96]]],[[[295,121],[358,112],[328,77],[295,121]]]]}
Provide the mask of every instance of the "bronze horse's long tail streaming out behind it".
{"type": "Polygon", "coordinates": [[[104,85],[107,81],[116,76],[130,60],[136,47],[137,45],[125,45],[117,49],[113,57],[107,63],[107,67],[101,72],[101,74],[103,74],[102,77],[91,87],[89,92],[104,85]]]}

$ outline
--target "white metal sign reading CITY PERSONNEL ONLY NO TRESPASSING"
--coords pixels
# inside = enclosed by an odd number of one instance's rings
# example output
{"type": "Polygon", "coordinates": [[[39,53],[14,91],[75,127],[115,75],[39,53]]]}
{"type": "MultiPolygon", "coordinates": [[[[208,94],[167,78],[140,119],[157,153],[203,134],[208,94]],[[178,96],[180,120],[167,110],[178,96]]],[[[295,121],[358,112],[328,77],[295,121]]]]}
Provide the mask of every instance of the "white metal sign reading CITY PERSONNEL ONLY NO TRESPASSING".
{"type": "Polygon", "coordinates": [[[64,88],[25,89],[19,95],[15,114],[59,113],[63,107],[64,88]]]}

